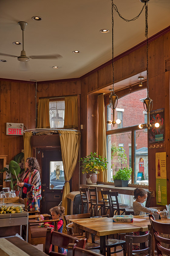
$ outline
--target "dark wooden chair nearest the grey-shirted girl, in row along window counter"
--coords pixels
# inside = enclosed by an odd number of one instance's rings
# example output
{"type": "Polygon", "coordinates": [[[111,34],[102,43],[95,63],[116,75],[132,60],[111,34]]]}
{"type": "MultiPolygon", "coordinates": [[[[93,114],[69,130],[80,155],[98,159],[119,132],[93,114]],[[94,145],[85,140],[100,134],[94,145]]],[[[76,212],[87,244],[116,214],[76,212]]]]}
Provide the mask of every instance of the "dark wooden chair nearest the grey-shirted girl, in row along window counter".
{"type": "Polygon", "coordinates": [[[131,206],[120,206],[118,202],[118,191],[112,192],[111,190],[109,191],[109,200],[110,200],[110,205],[111,205],[111,217],[114,216],[114,212],[117,213],[117,215],[120,215],[120,211],[122,214],[126,211],[126,208],[130,208],[131,206]],[[113,199],[115,197],[115,200],[113,199]]]}

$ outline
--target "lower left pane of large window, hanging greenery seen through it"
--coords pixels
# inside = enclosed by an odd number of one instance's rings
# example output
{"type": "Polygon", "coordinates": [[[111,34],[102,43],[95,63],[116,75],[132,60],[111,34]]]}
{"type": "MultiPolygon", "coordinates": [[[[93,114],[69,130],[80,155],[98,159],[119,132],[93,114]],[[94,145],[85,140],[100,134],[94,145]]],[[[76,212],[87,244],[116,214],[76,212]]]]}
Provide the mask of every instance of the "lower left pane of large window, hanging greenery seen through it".
{"type": "Polygon", "coordinates": [[[131,131],[107,136],[108,181],[119,169],[131,166],[131,131]]]}

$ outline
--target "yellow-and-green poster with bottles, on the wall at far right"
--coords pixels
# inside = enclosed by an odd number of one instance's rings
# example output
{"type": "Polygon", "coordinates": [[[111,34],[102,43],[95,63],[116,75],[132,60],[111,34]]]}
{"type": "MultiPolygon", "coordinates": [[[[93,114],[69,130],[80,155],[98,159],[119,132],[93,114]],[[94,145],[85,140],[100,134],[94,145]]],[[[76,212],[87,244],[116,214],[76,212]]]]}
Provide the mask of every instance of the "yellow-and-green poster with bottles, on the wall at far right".
{"type": "Polygon", "coordinates": [[[156,203],[167,204],[166,152],[155,153],[156,203]]]}

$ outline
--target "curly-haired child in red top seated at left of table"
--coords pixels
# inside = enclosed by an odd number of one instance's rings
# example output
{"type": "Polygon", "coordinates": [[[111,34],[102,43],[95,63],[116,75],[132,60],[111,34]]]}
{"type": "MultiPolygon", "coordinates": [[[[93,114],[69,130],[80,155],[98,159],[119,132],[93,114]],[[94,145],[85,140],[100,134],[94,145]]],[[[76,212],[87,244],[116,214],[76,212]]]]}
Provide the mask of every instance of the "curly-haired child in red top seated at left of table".
{"type": "MultiPolygon", "coordinates": [[[[55,206],[51,209],[49,209],[52,219],[60,219],[60,221],[57,223],[58,232],[62,233],[63,231],[63,216],[65,214],[65,208],[63,206],[55,206]]],[[[54,222],[46,222],[44,224],[46,227],[54,228],[54,222]]],[[[52,246],[52,251],[54,251],[54,245],[52,246]]],[[[66,254],[66,250],[62,247],[58,247],[58,252],[62,254],[66,254]]]]}

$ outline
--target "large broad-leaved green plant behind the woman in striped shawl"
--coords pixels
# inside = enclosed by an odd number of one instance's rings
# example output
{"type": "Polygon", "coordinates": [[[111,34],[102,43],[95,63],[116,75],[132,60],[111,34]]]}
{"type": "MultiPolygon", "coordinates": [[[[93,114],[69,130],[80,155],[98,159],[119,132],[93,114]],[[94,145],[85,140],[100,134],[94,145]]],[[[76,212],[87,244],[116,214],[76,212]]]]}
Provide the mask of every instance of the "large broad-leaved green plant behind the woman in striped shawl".
{"type": "Polygon", "coordinates": [[[18,155],[16,155],[14,157],[15,161],[14,160],[11,160],[9,162],[9,169],[4,167],[4,169],[2,169],[0,172],[8,172],[9,175],[11,177],[7,178],[7,179],[4,179],[5,181],[9,181],[10,183],[10,187],[11,189],[13,190],[16,183],[17,183],[17,179],[16,179],[16,176],[19,178],[19,175],[21,175],[22,172],[24,172],[25,169],[21,169],[20,166],[19,166],[19,162],[21,162],[21,159],[24,157],[24,153],[19,153],[18,155]],[[15,176],[15,173],[16,173],[16,176],[15,176]]]}

